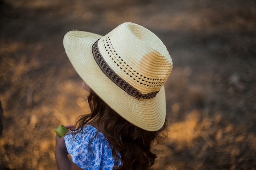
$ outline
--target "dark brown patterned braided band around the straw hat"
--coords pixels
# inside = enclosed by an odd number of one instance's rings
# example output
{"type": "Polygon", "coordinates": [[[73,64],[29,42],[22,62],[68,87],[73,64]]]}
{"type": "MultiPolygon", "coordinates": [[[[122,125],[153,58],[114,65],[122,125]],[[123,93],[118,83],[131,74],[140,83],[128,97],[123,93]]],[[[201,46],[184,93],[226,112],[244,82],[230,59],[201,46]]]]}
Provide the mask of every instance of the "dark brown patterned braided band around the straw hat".
{"type": "Polygon", "coordinates": [[[117,75],[115,71],[113,71],[112,68],[108,66],[106,61],[101,56],[101,53],[99,52],[99,49],[98,49],[98,41],[99,40],[97,40],[92,45],[92,53],[93,53],[94,59],[96,60],[97,64],[99,65],[103,73],[105,73],[108,76],[108,78],[112,80],[112,82],[117,84],[117,86],[123,89],[126,93],[136,98],[150,99],[157,95],[158,91],[143,95],[136,88],[132,87],[129,83],[127,83],[126,81],[124,81],[124,79],[122,79],[119,75],[117,75]]]}

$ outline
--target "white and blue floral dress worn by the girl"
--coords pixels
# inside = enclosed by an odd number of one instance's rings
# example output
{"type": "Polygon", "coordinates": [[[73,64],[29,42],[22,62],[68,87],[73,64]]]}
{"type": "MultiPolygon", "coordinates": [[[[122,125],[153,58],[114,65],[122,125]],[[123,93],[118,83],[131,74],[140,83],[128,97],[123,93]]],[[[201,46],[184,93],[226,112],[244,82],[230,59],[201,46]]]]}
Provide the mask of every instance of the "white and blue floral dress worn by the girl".
{"type": "Polygon", "coordinates": [[[121,165],[112,157],[112,146],[103,133],[93,126],[85,126],[83,134],[66,135],[65,144],[72,161],[83,170],[112,170],[121,165]]]}

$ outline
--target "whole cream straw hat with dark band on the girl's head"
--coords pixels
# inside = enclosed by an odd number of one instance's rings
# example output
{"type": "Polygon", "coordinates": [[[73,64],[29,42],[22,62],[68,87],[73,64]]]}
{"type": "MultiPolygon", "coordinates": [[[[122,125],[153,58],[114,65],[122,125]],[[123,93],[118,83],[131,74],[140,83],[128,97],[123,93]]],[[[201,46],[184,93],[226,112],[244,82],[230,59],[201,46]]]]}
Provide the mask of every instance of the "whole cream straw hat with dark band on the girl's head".
{"type": "Polygon", "coordinates": [[[63,44],[76,72],[121,117],[144,130],[162,128],[172,60],[154,33],[126,22],[105,36],[70,31],[63,44]]]}

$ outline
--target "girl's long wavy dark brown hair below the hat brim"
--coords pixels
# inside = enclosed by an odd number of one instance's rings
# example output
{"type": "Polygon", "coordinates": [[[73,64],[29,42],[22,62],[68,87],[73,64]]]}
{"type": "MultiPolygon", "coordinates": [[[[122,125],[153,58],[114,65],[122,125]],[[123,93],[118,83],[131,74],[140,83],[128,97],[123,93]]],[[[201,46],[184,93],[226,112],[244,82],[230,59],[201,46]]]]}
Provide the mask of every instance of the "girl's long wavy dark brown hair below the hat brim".
{"type": "Polygon", "coordinates": [[[112,145],[112,156],[122,162],[122,165],[114,170],[149,170],[156,158],[150,147],[159,132],[164,130],[166,123],[155,132],[138,128],[119,116],[92,90],[88,103],[91,113],[79,117],[76,121],[76,130],[79,131],[75,133],[83,131],[83,127],[89,122],[97,124],[112,145]]]}

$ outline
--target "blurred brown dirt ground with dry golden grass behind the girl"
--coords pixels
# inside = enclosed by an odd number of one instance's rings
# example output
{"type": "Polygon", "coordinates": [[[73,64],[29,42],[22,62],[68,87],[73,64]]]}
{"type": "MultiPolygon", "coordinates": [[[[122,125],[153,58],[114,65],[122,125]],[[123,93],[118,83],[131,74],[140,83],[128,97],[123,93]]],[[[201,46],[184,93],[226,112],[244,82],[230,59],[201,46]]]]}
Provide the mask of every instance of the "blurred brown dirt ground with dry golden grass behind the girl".
{"type": "Polygon", "coordinates": [[[54,128],[88,113],[63,36],[123,22],[173,59],[154,170],[256,170],[255,0],[1,0],[0,170],[57,170],[54,128]]]}

